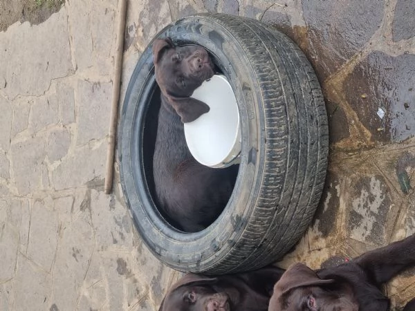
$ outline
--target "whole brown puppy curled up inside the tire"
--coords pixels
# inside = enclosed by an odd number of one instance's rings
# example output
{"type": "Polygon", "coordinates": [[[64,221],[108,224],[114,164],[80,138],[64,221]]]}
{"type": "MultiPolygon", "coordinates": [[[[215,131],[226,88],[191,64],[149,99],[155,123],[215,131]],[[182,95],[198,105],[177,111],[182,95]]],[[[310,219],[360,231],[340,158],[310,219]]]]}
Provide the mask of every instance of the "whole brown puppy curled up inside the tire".
{"type": "Polygon", "coordinates": [[[153,44],[156,81],[161,91],[153,173],[156,198],[168,218],[185,232],[199,232],[221,214],[228,202],[238,167],[205,167],[187,148],[183,123],[192,122],[209,106],[190,97],[214,75],[208,52],[200,46],[153,44]]]}

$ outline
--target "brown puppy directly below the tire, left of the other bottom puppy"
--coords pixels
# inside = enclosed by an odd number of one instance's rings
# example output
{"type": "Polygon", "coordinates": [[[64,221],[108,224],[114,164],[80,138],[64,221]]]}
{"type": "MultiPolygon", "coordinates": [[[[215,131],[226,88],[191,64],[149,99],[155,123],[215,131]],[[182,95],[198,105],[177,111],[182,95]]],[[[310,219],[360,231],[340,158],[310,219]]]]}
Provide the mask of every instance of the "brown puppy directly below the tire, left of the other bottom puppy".
{"type": "Polygon", "coordinates": [[[186,274],[163,299],[159,311],[266,311],[278,267],[216,277],[186,274]]]}

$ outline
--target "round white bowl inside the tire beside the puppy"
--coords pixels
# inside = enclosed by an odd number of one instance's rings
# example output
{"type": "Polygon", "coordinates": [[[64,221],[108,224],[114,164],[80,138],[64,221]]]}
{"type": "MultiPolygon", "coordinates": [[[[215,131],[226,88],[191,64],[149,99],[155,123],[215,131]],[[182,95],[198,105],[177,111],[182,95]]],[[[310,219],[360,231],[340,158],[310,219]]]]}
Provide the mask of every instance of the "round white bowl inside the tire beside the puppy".
{"type": "Polygon", "coordinates": [[[210,107],[208,113],[185,123],[185,138],[192,156],[201,164],[214,168],[239,162],[239,111],[228,79],[214,75],[196,88],[192,97],[210,107]]]}

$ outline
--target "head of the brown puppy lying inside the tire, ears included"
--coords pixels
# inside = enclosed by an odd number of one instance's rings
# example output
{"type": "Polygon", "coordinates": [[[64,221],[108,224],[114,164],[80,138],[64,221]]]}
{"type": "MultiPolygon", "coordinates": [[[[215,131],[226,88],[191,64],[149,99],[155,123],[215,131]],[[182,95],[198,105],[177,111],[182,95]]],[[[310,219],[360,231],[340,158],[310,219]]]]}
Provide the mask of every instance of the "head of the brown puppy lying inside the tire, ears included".
{"type": "Polygon", "coordinates": [[[208,52],[200,46],[174,46],[165,38],[154,41],[153,55],[158,86],[182,122],[192,122],[207,113],[209,106],[190,95],[214,75],[208,52]]]}

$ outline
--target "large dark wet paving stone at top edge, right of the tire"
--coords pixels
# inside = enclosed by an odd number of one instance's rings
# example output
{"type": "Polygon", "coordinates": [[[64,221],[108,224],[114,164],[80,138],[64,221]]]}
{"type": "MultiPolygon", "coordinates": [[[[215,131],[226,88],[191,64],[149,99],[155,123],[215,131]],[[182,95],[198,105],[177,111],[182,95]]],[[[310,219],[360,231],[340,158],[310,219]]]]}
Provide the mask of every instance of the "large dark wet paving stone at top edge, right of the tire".
{"type": "Polygon", "coordinates": [[[353,57],[374,32],[383,17],[377,0],[302,1],[308,28],[308,50],[320,82],[353,57]]]}

